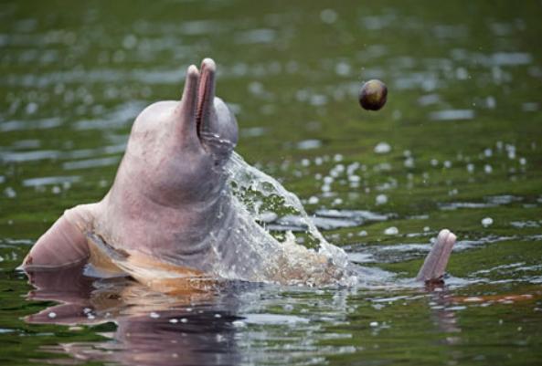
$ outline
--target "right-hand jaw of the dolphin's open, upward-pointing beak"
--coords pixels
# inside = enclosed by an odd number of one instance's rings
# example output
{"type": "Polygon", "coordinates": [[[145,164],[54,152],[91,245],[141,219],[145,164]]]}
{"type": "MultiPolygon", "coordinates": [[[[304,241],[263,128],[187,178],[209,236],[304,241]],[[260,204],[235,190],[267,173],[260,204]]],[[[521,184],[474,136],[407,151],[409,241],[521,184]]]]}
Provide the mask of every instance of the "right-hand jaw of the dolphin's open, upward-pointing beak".
{"type": "Polygon", "coordinates": [[[216,69],[215,61],[211,58],[205,58],[201,62],[196,107],[196,131],[198,137],[201,137],[201,131],[205,128],[205,121],[209,118],[211,107],[213,106],[216,69]]]}

